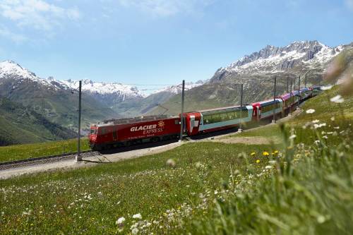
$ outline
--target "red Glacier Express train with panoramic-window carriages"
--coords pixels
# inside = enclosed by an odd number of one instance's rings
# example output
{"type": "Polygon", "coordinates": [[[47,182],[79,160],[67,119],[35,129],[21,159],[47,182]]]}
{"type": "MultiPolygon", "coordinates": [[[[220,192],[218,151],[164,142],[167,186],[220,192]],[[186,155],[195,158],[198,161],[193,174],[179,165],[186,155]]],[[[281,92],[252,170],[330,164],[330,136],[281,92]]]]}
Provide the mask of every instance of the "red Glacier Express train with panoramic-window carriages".
{"type": "MultiPolygon", "coordinates": [[[[223,107],[184,113],[184,134],[199,135],[220,129],[253,123],[275,115],[283,116],[299,102],[320,92],[320,87],[303,88],[280,95],[275,100],[265,100],[243,107],[223,107]]],[[[131,119],[111,119],[90,126],[90,146],[93,150],[128,146],[137,143],[157,142],[179,138],[179,116],[141,116],[131,119]]]]}

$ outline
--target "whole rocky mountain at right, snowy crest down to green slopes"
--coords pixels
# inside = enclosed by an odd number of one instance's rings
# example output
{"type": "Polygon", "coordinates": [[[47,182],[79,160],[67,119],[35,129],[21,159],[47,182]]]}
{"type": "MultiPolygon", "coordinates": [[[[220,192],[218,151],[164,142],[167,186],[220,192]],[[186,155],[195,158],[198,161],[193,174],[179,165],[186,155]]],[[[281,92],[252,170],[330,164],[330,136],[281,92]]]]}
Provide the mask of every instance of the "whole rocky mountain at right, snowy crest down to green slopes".
{"type": "MultiPolygon", "coordinates": [[[[244,56],[225,68],[219,68],[208,83],[186,91],[185,111],[222,107],[240,103],[240,87],[244,84],[244,103],[273,96],[273,78],[277,77],[277,94],[287,91],[287,78],[292,87],[323,83],[323,73],[330,61],[351,45],[328,47],[318,41],[293,42],[286,47],[267,46],[244,56]],[[295,80],[295,81],[294,81],[295,80]]],[[[179,114],[180,95],[162,104],[169,114],[179,114]]],[[[162,112],[157,107],[153,112],[162,112]]]]}

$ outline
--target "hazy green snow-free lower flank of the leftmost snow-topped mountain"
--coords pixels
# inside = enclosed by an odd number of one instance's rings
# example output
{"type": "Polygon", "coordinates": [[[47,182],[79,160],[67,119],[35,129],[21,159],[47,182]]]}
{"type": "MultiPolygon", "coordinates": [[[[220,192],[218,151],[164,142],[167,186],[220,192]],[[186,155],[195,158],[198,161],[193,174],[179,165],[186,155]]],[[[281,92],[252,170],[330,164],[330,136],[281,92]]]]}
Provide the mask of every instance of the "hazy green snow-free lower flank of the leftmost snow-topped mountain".
{"type": "MultiPolygon", "coordinates": [[[[23,80],[2,78],[0,96],[42,114],[46,119],[61,126],[77,131],[78,94],[69,90],[47,88],[45,85],[23,80]]],[[[82,95],[82,128],[90,123],[119,117],[107,104],[96,100],[91,95],[82,95]]]]}

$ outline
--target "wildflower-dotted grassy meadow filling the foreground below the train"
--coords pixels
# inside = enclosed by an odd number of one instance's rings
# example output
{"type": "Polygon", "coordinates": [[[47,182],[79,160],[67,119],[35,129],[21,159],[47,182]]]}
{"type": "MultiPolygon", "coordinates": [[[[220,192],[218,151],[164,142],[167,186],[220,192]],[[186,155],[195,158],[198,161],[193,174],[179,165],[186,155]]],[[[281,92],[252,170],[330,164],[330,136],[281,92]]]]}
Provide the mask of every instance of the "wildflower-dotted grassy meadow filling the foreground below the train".
{"type": "Polygon", "coordinates": [[[186,143],[1,180],[1,234],[352,234],[353,98],[330,102],[337,92],[290,123],[234,135],[279,145],[186,143]]]}

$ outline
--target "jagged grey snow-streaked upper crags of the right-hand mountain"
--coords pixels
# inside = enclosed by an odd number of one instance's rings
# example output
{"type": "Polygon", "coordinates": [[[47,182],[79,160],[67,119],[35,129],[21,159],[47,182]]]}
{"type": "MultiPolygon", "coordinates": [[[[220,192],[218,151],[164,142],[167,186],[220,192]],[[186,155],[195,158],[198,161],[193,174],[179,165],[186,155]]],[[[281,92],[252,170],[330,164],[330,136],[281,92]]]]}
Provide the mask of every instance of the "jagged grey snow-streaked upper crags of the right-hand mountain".
{"type": "Polygon", "coordinates": [[[293,42],[286,47],[266,46],[258,52],[241,57],[216,73],[263,74],[280,73],[295,66],[323,68],[344,47],[328,47],[318,41],[293,42]]]}

